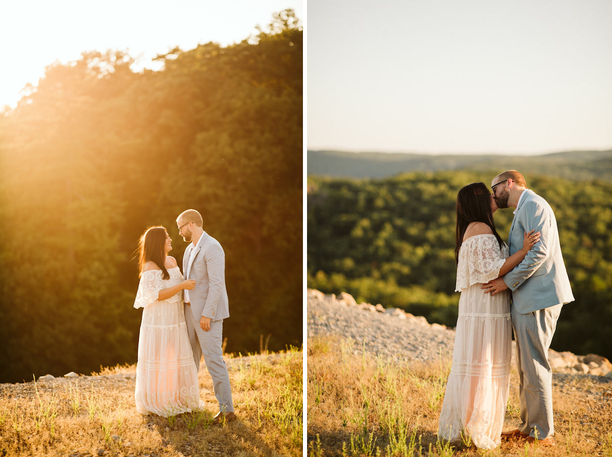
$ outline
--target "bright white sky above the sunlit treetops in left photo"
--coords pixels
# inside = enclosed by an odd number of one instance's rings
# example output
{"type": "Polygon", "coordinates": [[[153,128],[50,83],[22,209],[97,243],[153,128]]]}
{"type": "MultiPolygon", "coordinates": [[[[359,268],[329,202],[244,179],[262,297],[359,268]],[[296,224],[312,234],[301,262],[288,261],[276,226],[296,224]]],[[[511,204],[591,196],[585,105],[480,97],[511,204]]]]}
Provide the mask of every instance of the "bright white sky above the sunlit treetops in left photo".
{"type": "MultiPolygon", "coordinates": [[[[267,31],[272,14],[291,8],[302,23],[302,0],[1,0],[0,108],[14,107],[26,84],[38,85],[45,67],[67,64],[84,51],[128,51],[134,70],[175,46],[238,43],[267,31]]],[[[157,66],[156,66],[157,65],[157,66]]]]}

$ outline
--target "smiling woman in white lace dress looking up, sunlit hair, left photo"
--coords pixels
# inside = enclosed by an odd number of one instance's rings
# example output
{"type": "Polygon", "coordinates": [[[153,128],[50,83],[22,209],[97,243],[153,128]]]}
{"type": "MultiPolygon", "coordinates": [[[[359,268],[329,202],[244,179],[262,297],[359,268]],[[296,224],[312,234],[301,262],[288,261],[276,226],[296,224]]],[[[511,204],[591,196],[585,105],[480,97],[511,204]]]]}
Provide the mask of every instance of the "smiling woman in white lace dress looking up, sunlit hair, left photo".
{"type": "Polygon", "coordinates": [[[151,227],[138,243],[140,285],[135,308],[143,309],[136,365],[136,410],[163,417],[200,408],[198,371],[187,334],[182,291],[195,280],[183,280],[172,239],[163,227],[151,227]]]}

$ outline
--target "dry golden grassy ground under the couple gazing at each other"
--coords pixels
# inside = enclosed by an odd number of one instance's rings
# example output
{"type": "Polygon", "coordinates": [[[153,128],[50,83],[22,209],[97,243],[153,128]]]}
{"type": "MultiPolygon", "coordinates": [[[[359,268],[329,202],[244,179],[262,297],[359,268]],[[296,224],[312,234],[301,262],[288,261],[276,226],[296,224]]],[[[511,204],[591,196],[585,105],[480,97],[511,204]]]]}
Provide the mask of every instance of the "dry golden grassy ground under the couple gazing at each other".
{"type": "Polygon", "coordinates": [[[134,404],[135,365],[95,376],[0,387],[2,456],[302,455],[302,352],[228,357],[238,420],[211,425],[218,411],[206,368],[206,412],[168,419],[134,404]]]}

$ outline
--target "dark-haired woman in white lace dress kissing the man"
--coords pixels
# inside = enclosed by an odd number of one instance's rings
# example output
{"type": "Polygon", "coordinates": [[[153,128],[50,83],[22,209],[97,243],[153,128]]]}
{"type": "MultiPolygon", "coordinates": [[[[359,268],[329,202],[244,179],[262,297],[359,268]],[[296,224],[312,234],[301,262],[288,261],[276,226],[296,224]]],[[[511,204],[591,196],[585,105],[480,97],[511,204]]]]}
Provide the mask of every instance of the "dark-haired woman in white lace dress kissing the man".
{"type": "Polygon", "coordinates": [[[457,285],[461,292],[453,364],[438,436],[451,444],[499,445],[510,387],[510,293],[485,294],[482,283],[503,276],[525,257],[540,233],[525,233],[523,249],[508,247],[493,223],[495,200],[484,183],[457,195],[457,285]]]}

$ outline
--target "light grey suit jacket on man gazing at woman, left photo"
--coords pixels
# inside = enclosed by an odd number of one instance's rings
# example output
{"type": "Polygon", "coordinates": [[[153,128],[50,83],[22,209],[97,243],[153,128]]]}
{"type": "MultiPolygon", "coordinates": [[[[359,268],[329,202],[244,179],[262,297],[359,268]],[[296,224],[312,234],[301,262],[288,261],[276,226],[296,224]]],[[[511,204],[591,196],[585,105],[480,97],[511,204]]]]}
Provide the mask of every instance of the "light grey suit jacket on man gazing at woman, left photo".
{"type": "Polygon", "coordinates": [[[204,238],[198,240],[198,247],[188,268],[193,243],[189,243],[183,256],[184,279],[195,279],[195,289],[189,291],[191,310],[196,322],[200,317],[209,317],[212,321],[219,321],[230,317],[228,293],[225,288],[225,252],[219,242],[202,233],[204,238]],[[189,275],[187,276],[187,270],[189,275]]]}

